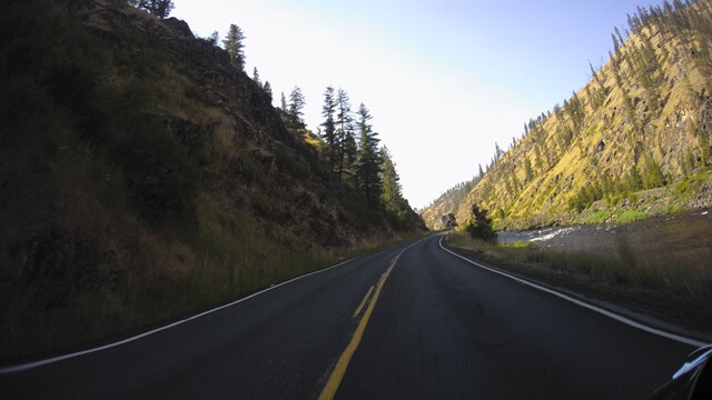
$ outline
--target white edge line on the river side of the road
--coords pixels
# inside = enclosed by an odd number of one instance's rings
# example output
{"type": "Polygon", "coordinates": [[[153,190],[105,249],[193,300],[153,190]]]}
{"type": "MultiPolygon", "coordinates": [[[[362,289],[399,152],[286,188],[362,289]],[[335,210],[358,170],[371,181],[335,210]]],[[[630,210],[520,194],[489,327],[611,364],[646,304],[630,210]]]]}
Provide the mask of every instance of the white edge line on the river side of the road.
{"type": "Polygon", "coordinates": [[[558,298],[561,298],[561,299],[567,300],[567,301],[570,301],[570,302],[572,302],[572,303],[574,303],[574,304],[576,304],[576,306],[581,306],[581,307],[587,308],[589,310],[592,310],[592,311],[595,311],[595,312],[597,312],[597,313],[600,313],[600,314],[603,314],[603,316],[605,316],[605,317],[612,318],[612,319],[614,319],[614,320],[616,320],[616,321],[619,321],[619,322],[623,322],[623,323],[625,323],[626,326],[630,326],[630,327],[633,327],[633,328],[637,328],[637,329],[640,329],[640,330],[643,330],[643,331],[649,332],[649,333],[652,333],[652,334],[656,334],[656,336],[659,336],[659,337],[663,337],[663,338],[666,338],[666,339],[671,339],[671,340],[678,341],[678,342],[680,342],[680,343],[690,344],[690,346],[694,346],[694,347],[702,347],[702,346],[708,344],[706,342],[703,342],[703,341],[699,341],[699,340],[691,339],[691,338],[685,338],[685,337],[680,336],[680,334],[670,333],[670,332],[665,332],[665,331],[663,331],[663,330],[660,330],[660,329],[656,329],[656,328],[653,328],[653,327],[649,327],[649,326],[646,326],[646,324],[643,324],[643,323],[640,323],[640,322],[637,322],[637,321],[634,321],[634,320],[632,320],[632,319],[630,319],[630,318],[625,318],[625,317],[623,317],[623,316],[616,314],[616,313],[611,312],[611,311],[609,311],[609,310],[605,310],[605,309],[602,309],[602,308],[600,308],[600,307],[596,307],[596,306],[590,304],[590,303],[587,303],[587,302],[585,302],[585,301],[582,301],[582,300],[575,299],[575,298],[573,298],[573,297],[571,297],[571,296],[566,296],[566,294],[564,294],[564,293],[562,293],[562,292],[557,292],[557,291],[555,291],[555,290],[552,290],[552,289],[550,289],[550,288],[543,287],[543,286],[541,286],[541,284],[536,284],[536,283],[534,283],[534,282],[532,282],[532,281],[528,281],[528,280],[526,280],[526,279],[522,279],[522,278],[520,278],[520,277],[516,277],[516,276],[513,276],[513,274],[510,274],[510,273],[506,273],[506,272],[503,272],[503,271],[496,270],[496,269],[494,269],[494,268],[490,268],[490,267],[487,267],[487,266],[481,264],[479,262],[473,261],[473,260],[471,260],[471,259],[468,259],[468,258],[466,258],[466,257],[463,257],[463,256],[461,256],[461,254],[458,254],[458,253],[456,253],[456,252],[454,252],[454,251],[451,251],[451,250],[446,249],[446,248],[443,246],[443,239],[444,239],[444,238],[445,238],[445,236],[443,236],[443,237],[441,238],[439,242],[438,242],[438,243],[439,243],[439,246],[441,246],[441,249],[443,249],[443,250],[447,251],[448,253],[451,253],[451,254],[453,254],[453,256],[455,256],[455,257],[459,257],[461,259],[463,259],[463,260],[465,260],[465,261],[467,261],[467,262],[469,262],[469,263],[472,263],[472,264],[474,264],[474,266],[477,266],[477,267],[479,267],[479,268],[482,268],[482,269],[485,269],[485,270],[487,270],[487,271],[490,271],[490,272],[494,272],[494,273],[501,274],[501,276],[503,276],[503,277],[506,277],[506,278],[513,279],[513,280],[515,280],[515,281],[517,281],[517,282],[520,282],[520,283],[523,283],[523,284],[530,286],[530,287],[532,287],[532,288],[538,289],[538,290],[544,291],[544,292],[547,292],[547,293],[550,293],[550,294],[554,294],[554,296],[556,296],[556,297],[558,297],[558,298]]]}

